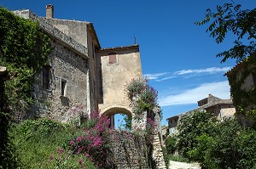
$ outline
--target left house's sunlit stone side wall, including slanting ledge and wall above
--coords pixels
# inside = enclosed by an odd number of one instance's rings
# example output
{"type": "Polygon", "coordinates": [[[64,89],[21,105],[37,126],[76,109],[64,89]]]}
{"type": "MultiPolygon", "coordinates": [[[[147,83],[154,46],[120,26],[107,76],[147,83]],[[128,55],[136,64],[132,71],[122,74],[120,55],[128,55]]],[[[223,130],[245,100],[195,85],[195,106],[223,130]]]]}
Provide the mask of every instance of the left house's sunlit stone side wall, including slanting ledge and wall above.
{"type": "Polygon", "coordinates": [[[90,57],[86,47],[87,38],[85,38],[87,22],[58,20],[63,24],[62,26],[66,23],[70,30],[73,30],[72,26],[75,27],[74,23],[80,26],[80,32],[83,28],[83,36],[75,37],[72,34],[75,31],[61,30],[60,26],[59,30],[54,26],[57,25],[53,22],[54,20],[38,17],[27,9],[16,10],[14,13],[23,18],[38,21],[41,29],[49,35],[54,48],[49,56],[49,88],[43,87],[43,72],[35,77],[33,97],[37,103],[32,107],[32,112],[36,111],[40,115],[51,112],[60,121],[63,121],[67,119],[63,116],[67,116],[68,110],[73,110],[74,107],[79,106],[79,108],[88,110],[87,107],[90,106],[91,99],[89,87],[89,76],[91,75],[89,75],[90,57]],[[83,42],[81,44],[77,41],[83,42]],[[64,85],[65,87],[63,87],[64,85]]]}

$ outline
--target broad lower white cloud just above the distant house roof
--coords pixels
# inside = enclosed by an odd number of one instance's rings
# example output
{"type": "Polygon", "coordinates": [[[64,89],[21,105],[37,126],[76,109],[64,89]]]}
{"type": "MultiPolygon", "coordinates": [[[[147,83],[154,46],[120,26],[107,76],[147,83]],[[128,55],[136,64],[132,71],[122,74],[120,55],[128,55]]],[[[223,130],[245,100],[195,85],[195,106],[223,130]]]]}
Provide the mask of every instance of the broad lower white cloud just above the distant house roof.
{"type": "Polygon", "coordinates": [[[220,98],[230,98],[230,85],[228,81],[204,83],[199,87],[195,87],[182,93],[169,95],[165,98],[160,98],[160,106],[176,105],[176,104],[196,104],[198,100],[207,98],[208,94],[220,98]]]}

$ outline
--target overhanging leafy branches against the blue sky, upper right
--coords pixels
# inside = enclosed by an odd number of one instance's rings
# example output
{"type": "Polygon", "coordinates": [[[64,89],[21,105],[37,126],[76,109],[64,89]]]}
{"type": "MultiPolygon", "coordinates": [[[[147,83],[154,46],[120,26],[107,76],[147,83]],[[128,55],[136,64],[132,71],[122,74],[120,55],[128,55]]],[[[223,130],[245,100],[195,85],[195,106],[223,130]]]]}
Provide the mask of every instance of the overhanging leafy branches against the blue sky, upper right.
{"type": "Polygon", "coordinates": [[[247,57],[255,58],[256,8],[242,10],[240,4],[224,3],[223,6],[217,6],[216,12],[208,8],[206,18],[195,22],[195,25],[205,25],[208,22],[211,23],[207,32],[210,32],[210,36],[217,43],[223,42],[228,32],[236,36],[235,46],[217,55],[223,57],[222,62],[226,59],[236,59],[236,62],[240,62],[247,57]],[[248,41],[241,42],[243,37],[248,41]]]}

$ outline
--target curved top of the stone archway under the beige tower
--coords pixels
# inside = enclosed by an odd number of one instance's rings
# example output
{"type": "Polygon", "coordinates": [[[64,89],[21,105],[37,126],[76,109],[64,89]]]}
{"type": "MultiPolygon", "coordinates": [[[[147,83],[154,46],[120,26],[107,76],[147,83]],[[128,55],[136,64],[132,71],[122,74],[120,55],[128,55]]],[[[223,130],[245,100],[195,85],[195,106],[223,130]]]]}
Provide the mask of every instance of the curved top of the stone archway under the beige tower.
{"type": "Polygon", "coordinates": [[[107,108],[102,110],[101,115],[107,115],[110,118],[110,121],[111,121],[110,127],[112,127],[114,126],[113,115],[120,114],[120,113],[125,115],[131,115],[131,117],[133,116],[130,108],[120,104],[113,104],[111,106],[108,106],[107,108]]]}

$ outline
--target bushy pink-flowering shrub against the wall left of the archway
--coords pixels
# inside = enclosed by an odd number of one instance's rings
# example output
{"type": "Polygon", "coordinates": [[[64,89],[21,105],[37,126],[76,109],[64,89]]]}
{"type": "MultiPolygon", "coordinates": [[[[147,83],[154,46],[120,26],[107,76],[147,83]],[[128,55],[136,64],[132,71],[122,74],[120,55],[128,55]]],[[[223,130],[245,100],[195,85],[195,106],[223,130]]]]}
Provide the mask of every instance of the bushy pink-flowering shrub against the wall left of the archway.
{"type": "Polygon", "coordinates": [[[83,132],[69,142],[69,149],[73,154],[83,154],[97,166],[108,166],[108,135],[110,120],[98,112],[90,113],[90,120],[84,124],[83,132]]]}

